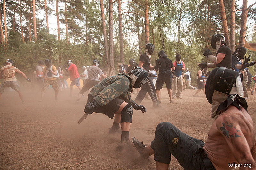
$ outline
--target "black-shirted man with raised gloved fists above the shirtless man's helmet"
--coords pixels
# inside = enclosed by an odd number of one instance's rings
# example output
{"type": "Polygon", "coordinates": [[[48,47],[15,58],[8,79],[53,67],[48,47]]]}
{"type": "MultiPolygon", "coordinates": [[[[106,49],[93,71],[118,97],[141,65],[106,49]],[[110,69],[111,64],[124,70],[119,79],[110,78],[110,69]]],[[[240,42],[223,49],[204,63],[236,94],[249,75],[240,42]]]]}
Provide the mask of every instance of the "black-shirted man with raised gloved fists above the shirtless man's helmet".
{"type": "Polygon", "coordinates": [[[209,49],[206,49],[203,53],[212,63],[201,63],[198,66],[201,69],[205,67],[215,68],[215,67],[227,67],[228,69],[232,68],[232,56],[231,50],[225,43],[225,37],[221,34],[215,34],[211,39],[211,46],[216,51],[216,56],[213,56],[209,49]]]}

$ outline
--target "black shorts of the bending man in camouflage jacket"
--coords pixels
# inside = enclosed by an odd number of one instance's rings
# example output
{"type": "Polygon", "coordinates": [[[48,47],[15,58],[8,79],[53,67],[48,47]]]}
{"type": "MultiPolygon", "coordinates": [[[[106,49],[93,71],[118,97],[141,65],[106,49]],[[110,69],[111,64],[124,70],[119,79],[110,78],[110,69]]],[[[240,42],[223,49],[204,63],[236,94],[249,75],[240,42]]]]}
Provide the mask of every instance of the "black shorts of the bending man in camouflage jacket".
{"type": "MultiPolygon", "coordinates": [[[[93,99],[94,99],[94,97],[91,94],[89,94],[87,102],[92,102],[93,99]]],[[[118,109],[120,108],[120,105],[123,102],[124,102],[124,100],[116,98],[104,106],[99,106],[94,112],[103,113],[106,116],[108,116],[109,118],[113,119],[114,113],[116,113],[118,111],[118,109]]]]}

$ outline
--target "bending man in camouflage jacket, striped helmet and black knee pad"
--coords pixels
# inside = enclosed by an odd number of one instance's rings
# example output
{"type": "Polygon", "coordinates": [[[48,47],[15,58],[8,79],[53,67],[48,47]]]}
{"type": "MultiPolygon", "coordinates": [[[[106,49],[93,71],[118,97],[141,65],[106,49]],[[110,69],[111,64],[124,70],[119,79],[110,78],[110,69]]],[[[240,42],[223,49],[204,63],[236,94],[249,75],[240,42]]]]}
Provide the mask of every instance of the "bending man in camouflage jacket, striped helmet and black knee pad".
{"type": "Polygon", "coordinates": [[[121,125],[121,143],[117,150],[122,150],[125,142],[129,140],[129,131],[132,123],[133,108],[146,112],[146,108],[137,105],[131,99],[133,88],[140,88],[148,80],[148,72],[140,67],[135,67],[129,74],[119,73],[115,76],[105,78],[95,85],[88,95],[88,103],[85,105],[84,116],[79,120],[81,123],[88,114],[103,113],[113,119],[114,115],[119,115],[119,119],[115,117],[113,127],[121,125]],[[117,122],[115,122],[117,121],[117,122]]]}

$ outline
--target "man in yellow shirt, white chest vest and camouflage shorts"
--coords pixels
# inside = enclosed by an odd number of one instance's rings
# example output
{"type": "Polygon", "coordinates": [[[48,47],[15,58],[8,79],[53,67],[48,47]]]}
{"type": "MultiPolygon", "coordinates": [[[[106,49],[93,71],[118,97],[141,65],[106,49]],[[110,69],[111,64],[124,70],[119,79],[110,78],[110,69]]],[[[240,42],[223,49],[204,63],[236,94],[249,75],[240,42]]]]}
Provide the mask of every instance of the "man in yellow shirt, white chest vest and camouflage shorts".
{"type": "Polygon", "coordinates": [[[46,67],[44,67],[43,74],[39,78],[37,78],[37,80],[44,78],[43,89],[41,92],[41,99],[39,101],[40,102],[43,101],[44,94],[49,85],[52,85],[52,88],[55,91],[55,100],[58,100],[57,96],[59,92],[59,85],[56,78],[59,77],[59,73],[57,71],[57,68],[54,65],[52,65],[51,59],[46,59],[44,63],[46,67]]]}

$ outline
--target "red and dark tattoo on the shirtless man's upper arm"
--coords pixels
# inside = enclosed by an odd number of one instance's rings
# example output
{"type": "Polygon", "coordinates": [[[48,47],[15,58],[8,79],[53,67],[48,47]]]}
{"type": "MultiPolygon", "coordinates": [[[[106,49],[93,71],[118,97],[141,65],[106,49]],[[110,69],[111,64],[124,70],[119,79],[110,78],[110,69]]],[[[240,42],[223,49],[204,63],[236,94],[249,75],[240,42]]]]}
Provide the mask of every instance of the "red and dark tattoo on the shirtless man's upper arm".
{"type": "Polygon", "coordinates": [[[220,130],[222,131],[222,133],[224,134],[224,136],[226,136],[227,138],[236,138],[236,137],[241,137],[241,131],[237,130],[236,127],[233,127],[233,124],[230,123],[228,124],[228,122],[222,123],[222,127],[220,127],[220,130]]]}

